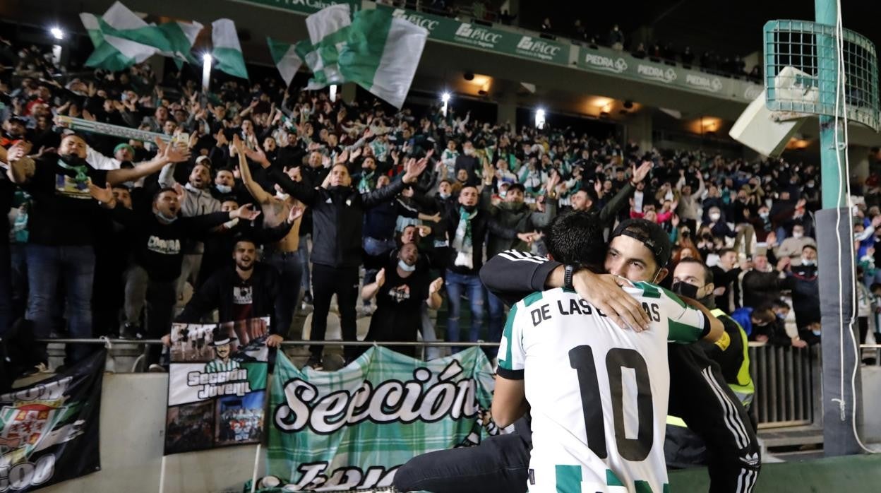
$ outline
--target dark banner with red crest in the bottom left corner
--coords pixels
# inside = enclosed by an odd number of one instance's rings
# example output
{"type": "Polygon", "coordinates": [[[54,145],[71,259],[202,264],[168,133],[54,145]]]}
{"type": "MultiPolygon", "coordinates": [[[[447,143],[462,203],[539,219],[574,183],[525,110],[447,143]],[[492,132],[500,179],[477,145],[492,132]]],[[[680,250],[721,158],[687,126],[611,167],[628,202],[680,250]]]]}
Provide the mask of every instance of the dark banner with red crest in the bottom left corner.
{"type": "Polygon", "coordinates": [[[33,491],[100,470],[102,349],[55,377],[0,395],[0,491],[33,491]]]}

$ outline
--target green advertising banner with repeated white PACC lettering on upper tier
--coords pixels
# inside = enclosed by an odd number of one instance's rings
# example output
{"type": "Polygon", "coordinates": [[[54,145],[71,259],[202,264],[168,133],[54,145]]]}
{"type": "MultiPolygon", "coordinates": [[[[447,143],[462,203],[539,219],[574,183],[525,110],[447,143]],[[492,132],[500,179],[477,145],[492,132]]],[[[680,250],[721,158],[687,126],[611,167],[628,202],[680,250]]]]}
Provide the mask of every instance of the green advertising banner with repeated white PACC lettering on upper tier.
{"type": "Polygon", "coordinates": [[[376,5],[376,8],[390,10],[394,17],[407,19],[417,26],[425,27],[428,30],[428,38],[435,41],[446,41],[541,62],[561,65],[569,63],[569,49],[571,48],[569,43],[564,44],[538,36],[462,22],[426,12],[410,11],[387,5],[376,5]]]}

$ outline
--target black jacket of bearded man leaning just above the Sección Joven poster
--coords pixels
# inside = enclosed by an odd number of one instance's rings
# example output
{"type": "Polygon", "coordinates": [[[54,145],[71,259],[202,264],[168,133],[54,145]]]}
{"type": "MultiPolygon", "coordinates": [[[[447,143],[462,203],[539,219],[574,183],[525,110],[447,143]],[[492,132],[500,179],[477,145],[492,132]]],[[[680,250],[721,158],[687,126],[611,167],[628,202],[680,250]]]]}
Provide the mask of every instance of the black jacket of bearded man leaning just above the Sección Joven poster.
{"type": "MultiPolygon", "coordinates": [[[[218,310],[219,322],[232,322],[233,287],[240,282],[239,274],[235,272],[234,267],[226,267],[214,273],[201,288],[196,290],[176,321],[197,324],[202,317],[213,310],[218,310]]],[[[276,298],[281,288],[278,271],[271,265],[255,262],[254,273],[251,274],[251,287],[253,289],[251,317],[270,317],[270,333],[277,333],[276,298]]]]}

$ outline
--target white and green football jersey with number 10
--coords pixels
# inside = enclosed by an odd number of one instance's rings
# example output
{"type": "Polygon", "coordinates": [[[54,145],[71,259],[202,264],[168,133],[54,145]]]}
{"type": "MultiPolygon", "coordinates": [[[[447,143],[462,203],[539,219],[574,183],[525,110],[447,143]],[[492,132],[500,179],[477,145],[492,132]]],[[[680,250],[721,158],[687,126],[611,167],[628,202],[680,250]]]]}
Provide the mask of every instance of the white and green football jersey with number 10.
{"type": "Polygon", "coordinates": [[[498,373],[524,379],[532,415],[529,493],[669,489],[667,342],[699,340],[709,321],[653,284],[624,289],[651,317],[648,331],[621,329],[561,288],[527,296],[508,315],[498,373]]]}

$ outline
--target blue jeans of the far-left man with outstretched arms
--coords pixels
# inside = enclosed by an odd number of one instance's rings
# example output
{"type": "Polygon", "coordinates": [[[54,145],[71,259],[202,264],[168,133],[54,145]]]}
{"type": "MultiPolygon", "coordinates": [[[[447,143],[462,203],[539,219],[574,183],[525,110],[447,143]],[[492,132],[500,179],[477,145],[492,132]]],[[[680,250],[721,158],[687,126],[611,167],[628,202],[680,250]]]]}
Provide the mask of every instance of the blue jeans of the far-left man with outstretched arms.
{"type": "MultiPolygon", "coordinates": [[[[64,283],[67,296],[68,332],[71,338],[92,337],[92,282],[95,275],[95,253],[91,246],[27,245],[27,319],[33,322],[33,335],[47,339],[52,330],[52,314],[59,300],[58,281],[64,283]]],[[[89,355],[88,346],[69,344],[67,364],[78,362],[89,355]]],[[[41,345],[44,360],[46,345],[41,345]]]]}

